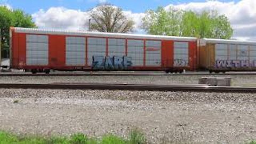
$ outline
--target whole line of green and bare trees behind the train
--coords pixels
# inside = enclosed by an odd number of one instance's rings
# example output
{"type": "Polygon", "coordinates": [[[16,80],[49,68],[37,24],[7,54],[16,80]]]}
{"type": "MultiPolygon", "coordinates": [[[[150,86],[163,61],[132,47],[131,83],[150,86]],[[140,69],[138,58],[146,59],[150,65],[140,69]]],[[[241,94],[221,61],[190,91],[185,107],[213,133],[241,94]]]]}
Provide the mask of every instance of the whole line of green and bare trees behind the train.
{"type": "MultiPolygon", "coordinates": [[[[85,23],[88,24],[88,23],[85,23]]],[[[102,4],[90,10],[90,30],[109,33],[132,33],[135,22],[124,11],[110,4],[102,4]]],[[[2,51],[9,51],[9,28],[36,28],[30,14],[0,6],[0,35],[2,51]]],[[[197,38],[229,39],[233,29],[226,15],[217,11],[182,11],[170,7],[148,10],[142,19],[141,29],[151,35],[188,36],[197,38]]],[[[6,55],[5,55],[6,56],[6,55]]]]}

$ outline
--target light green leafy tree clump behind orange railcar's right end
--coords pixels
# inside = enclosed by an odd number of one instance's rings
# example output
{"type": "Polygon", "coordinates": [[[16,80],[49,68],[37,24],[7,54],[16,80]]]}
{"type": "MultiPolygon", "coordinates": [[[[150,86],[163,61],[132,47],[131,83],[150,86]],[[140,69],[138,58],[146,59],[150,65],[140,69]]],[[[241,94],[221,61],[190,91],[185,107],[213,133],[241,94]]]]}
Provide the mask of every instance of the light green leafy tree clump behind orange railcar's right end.
{"type": "Polygon", "coordinates": [[[229,39],[233,35],[228,18],[217,11],[196,13],[175,10],[173,7],[167,11],[163,7],[147,11],[142,19],[142,28],[153,35],[222,39],[229,39]]]}

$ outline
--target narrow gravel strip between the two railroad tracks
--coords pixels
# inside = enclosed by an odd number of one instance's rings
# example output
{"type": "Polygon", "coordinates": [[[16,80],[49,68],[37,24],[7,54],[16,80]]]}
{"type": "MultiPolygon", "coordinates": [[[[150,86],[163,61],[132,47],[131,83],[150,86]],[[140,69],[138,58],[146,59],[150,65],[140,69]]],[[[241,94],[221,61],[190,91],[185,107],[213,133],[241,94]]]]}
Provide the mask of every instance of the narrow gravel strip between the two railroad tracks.
{"type": "MultiPolygon", "coordinates": [[[[0,77],[0,83],[198,84],[198,79],[201,77],[203,76],[2,76],[0,77]]],[[[254,75],[230,77],[232,86],[256,87],[256,76],[254,75]]]]}

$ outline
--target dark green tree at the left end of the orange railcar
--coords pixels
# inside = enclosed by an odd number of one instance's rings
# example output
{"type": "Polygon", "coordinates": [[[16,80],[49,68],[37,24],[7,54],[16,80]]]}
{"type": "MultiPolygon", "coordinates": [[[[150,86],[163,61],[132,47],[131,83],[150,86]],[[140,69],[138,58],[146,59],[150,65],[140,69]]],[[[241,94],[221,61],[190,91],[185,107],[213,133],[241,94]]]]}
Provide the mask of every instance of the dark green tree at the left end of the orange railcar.
{"type": "Polygon", "coordinates": [[[36,27],[31,15],[22,10],[11,10],[0,6],[0,35],[2,36],[2,50],[9,52],[10,27],[36,27]]]}

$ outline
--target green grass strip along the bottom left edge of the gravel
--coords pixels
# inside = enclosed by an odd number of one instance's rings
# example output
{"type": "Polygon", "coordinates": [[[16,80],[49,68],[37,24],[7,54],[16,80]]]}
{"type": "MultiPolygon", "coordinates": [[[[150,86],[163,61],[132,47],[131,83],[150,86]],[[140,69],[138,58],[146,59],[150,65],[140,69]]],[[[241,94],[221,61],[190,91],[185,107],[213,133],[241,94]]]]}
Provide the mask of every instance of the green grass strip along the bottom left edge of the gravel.
{"type": "Polygon", "coordinates": [[[129,138],[121,138],[113,134],[107,134],[100,139],[89,138],[83,133],[76,133],[70,137],[38,137],[35,135],[15,135],[0,131],[0,144],[145,144],[144,135],[138,130],[133,130],[129,138]]]}

